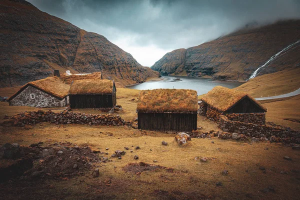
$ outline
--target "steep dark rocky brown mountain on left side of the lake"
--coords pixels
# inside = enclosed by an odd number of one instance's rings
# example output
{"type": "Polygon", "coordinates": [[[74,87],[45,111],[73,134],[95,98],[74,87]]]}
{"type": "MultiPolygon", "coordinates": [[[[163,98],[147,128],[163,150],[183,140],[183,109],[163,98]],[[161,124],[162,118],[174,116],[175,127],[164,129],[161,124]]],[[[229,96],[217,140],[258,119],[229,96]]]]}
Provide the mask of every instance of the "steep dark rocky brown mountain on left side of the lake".
{"type": "Polygon", "coordinates": [[[70,70],[101,71],[122,84],[159,76],[104,36],[40,11],[25,0],[0,1],[0,86],[70,70]]]}

